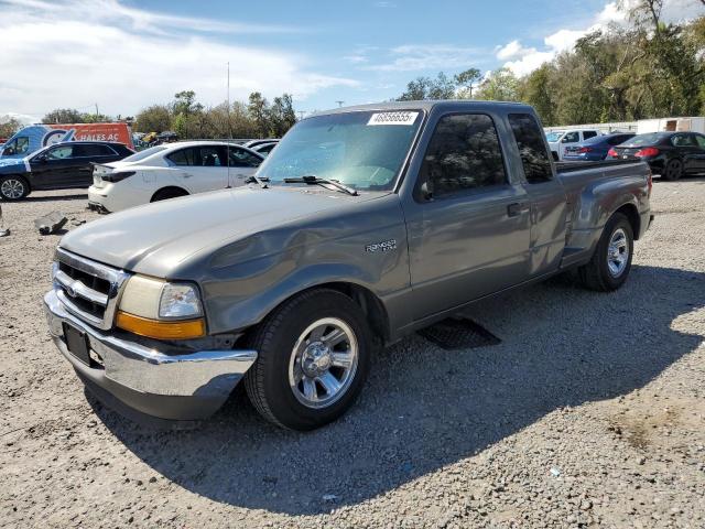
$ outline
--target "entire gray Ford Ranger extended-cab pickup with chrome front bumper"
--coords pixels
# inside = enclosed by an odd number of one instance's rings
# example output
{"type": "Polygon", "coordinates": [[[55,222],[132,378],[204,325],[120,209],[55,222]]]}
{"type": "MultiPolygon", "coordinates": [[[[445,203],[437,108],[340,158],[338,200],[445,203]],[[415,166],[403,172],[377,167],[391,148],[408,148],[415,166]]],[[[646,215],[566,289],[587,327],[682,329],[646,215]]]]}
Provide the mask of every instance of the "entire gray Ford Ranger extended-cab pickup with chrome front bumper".
{"type": "Polygon", "coordinates": [[[618,289],[650,194],[640,162],[554,164],[528,106],[336,109],[248,186],[70,231],[44,303],[123,414],[204,419],[245,379],[264,418],[308,430],[352,404],[378,347],[469,303],[571,269],[618,289]]]}

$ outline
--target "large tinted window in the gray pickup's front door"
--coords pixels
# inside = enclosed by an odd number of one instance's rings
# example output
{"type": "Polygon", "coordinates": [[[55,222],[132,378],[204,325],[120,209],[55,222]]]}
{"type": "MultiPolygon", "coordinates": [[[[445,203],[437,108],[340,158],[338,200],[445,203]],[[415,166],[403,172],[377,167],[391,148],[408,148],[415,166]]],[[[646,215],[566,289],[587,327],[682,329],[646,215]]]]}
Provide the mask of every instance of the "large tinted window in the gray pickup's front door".
{"type": "Polygon", "coordinates": [[[444,116],[421,165],[434,196],[502,185],[507,173],[492,119],[484,114],[444,116]]]}

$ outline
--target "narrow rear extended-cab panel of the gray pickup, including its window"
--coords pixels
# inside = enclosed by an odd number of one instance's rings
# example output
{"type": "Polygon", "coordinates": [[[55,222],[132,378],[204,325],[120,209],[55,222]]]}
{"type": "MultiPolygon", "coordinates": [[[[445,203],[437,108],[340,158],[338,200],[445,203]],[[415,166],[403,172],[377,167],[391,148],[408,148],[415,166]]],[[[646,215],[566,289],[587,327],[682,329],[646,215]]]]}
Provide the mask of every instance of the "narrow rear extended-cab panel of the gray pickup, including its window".
{"type": "Polygon", "coordinates": [[[530,114],[508,116],[519,149],[531,209],[529,277],[558,267],[565,247],[566,196],[553,172],[543,132],[530,114]]]}

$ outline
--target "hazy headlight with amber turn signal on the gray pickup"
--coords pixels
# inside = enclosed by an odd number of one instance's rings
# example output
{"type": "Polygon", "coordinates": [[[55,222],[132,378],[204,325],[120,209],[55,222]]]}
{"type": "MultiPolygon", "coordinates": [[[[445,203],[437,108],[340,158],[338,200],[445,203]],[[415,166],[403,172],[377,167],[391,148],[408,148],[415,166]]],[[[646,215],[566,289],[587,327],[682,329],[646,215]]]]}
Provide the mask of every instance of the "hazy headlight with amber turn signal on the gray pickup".
{"type": "Polygon", "coordinates": [[[162,339],[196,338],[206,331],[195,285],[144,276],[128,280],[116,324],[131,333],[162,339]]]}

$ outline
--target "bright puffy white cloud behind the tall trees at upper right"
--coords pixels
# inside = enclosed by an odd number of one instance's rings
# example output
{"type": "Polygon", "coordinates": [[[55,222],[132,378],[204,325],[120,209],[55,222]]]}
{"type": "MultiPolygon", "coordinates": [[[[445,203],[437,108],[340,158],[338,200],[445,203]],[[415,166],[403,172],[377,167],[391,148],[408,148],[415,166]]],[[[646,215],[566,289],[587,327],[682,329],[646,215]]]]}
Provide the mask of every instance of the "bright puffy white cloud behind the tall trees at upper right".
{"type": "MultiPolygon", "coordinates": [[[[631,6],[638,0],[626,0],[622,10],[618,9],[616,1],[607,2],[603,10],[593,17],[590,24],[584,29],[558,30],[543,39],[544,48],[524,47],[520,41],[513,40],[505,46],[496,48],[496,56],[506,61],[503,66],[521,76],[540,67],[543,63],[553,60],[558,53],[570,51],[575,43],[586,34],[604,30],[609,24],[627,24],[627,14],[631,6]]],[[[702,3],[698,0],[665,0],[661,19],[665,22],[680,22],[703,14],[702,3]]]]}

